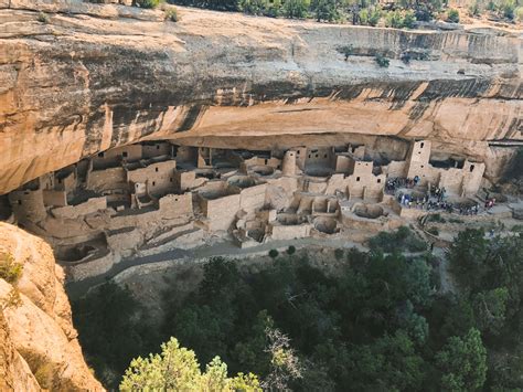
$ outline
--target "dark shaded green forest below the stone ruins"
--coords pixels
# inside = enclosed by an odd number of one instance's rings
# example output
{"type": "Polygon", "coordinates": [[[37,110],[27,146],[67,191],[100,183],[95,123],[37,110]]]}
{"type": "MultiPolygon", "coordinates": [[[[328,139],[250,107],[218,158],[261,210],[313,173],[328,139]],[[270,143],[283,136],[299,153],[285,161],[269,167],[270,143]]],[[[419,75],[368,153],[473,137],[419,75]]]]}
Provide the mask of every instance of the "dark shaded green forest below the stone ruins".
{"type": "Polygon", "coordinates": [[[521,389],[522,239],[460,233],[448,251],[455,292],[439,289],[431,254],[384,254],[382,240],[370,252],[337,251],[337,274],[299,252],[281,252],[249,273],[215,257],[183,301],[169,303],[157,330],[126,289],[107,284],[75,304],[82,346],[100,379],[114,374],[105,379],[113,386],[132,358],[174,337],[200,363],[218,356],[231,374],[256,374],[263,386],[276,380],[296,391],[521,389]],[[107,319],[87,317],[89,304],[107,319]],[[118,337],[107,328],[115,322],[118,337]]]}

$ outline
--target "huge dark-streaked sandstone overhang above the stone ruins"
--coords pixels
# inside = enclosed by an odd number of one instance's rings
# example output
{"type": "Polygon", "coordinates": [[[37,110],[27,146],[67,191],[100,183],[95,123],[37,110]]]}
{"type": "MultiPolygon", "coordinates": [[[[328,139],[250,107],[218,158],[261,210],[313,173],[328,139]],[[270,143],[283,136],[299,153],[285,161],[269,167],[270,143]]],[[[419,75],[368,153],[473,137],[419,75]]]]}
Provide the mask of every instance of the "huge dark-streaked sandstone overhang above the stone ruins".
{"type": "Polygon", "coordinates": [[[517,31],[181,8],[173,23],[160,10],[78,0],[0,4],[0,194],[140,139],[243,137],[256,148],[260,136],[366,134],[456,150],[522,139],[517,31]]]}

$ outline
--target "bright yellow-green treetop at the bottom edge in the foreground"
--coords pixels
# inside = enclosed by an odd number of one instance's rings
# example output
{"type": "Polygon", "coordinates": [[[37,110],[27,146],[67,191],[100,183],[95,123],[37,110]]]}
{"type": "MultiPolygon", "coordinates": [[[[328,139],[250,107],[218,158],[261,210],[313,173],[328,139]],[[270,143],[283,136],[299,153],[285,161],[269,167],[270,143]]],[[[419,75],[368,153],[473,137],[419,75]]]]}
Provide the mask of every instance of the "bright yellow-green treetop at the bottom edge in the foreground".
{"type": "Polygon", "coordinates": [[[175,338],[161,345],[160,354],[134,359],[120,383],[121,391],[262,391],[256,375],[227,377],[227,365],[215,357],[200,371],[194,351],[180,347],[175,338]]]}

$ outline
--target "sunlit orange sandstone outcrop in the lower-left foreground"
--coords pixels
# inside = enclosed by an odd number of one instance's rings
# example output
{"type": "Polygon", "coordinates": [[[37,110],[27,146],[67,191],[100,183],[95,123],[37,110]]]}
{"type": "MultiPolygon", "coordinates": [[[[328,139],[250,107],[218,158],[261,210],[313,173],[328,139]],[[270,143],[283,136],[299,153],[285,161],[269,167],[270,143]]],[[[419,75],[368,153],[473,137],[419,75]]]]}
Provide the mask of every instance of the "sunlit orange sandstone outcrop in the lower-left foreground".
{"type": "Polygon", "coordinates": [[[0,390],[102,391],[84,362],[51,247],[0,222],[0,252],[23,264],[18,306],[6,306],[12,286],[0,279],[0,390]]]}

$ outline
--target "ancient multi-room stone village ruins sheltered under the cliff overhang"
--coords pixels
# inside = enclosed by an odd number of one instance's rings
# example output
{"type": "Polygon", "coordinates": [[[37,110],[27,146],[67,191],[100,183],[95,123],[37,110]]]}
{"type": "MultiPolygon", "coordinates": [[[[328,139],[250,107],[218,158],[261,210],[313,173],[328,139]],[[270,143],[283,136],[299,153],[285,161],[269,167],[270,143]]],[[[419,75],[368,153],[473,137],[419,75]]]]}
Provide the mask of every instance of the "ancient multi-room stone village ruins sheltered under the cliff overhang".
{"type": "Polygon", "coordinates": [[[147,141],[41,176],[8,199],[11,219],[52,244],[71,280],[216,239],[239,248],[352,241],[355,231],[483,203],[484,162],[441,159],[430,140],[403,145],[387,153],[372,144],[246,150],[147,141]]]}

